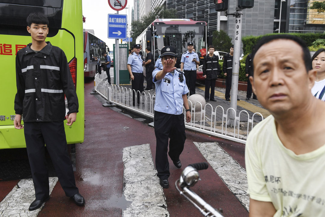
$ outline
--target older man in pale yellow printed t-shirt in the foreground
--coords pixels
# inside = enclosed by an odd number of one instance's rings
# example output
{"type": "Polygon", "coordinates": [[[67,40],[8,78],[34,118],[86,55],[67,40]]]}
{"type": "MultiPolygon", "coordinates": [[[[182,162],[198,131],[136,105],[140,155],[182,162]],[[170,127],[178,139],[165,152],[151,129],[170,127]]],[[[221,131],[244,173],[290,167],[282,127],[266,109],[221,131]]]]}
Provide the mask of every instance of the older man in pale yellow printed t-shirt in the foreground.
{"type": "Polygon", "coordinates": [[[253,91],[272,115],[247,138],[250,216],[325,216],[325,103],[310,92],[309,50],[292,35],[266,36],[253,66],[253,91]]]}

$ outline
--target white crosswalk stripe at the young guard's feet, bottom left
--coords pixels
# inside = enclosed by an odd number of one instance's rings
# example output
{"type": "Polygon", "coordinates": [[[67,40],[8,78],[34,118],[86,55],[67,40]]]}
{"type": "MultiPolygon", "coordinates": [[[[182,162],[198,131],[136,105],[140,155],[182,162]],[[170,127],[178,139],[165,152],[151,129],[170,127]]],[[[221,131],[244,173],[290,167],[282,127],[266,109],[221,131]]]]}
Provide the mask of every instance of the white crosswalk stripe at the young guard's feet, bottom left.
{"type": "MultiPolygon", "coordinates": [[[[48,179],[50,185],[50,194],[58,182],[58,177],[48,179]]],[[[29,211],[28,208],[35,200],[34,184],[32,179],[22,179],[9,192],[9,194],[0,202],[1,217],[36,217],[41,208],[29,211]]]]}

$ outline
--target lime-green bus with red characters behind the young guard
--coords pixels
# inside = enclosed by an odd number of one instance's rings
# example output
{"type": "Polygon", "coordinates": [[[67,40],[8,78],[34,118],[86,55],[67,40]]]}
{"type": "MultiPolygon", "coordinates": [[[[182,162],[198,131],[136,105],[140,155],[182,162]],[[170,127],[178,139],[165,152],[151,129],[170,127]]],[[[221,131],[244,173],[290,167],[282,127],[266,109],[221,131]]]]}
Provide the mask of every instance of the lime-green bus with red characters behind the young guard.
{"type": "MultiPolygon", "coordinates": [[[[79,112],[72,126],[65,126],[68,144],[81,143],[85,134],[82,0],[0,0],[0,149],[26,147],[24,131],[14,128],[17,51],[32,42],[26,18],[42,12],[49,20],[46,41],[67,56],[76,87],[79,112]]],[[[66,123],[66,120],[65,120],[66,123]]],[[[22,121],[23,124],[23,121],[22,121]]]]}

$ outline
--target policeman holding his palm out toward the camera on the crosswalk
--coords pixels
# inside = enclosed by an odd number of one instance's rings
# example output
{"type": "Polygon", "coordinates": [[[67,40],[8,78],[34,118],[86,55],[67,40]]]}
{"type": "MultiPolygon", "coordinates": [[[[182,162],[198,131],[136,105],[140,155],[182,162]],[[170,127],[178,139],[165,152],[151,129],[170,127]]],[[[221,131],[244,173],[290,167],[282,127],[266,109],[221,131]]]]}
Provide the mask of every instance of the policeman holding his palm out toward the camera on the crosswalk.
{"type": "Polygon", "coordinates": [[[167,156],[168,137],[169,152],[177,168],[181,168],[179,156],[184,149],[186,140],[183,105],[186,110],[186,121],[191,120],[188,106],[188,88],[183,73],[176,70],[176,49],[172,46],[162,48],[163,69],[156,68],[152,72],[153,82],[156,84],[156,101],[154,107],[154,126],[157,140],[156,169],[160,185],[168,188],[169,162],[167,156]]]}

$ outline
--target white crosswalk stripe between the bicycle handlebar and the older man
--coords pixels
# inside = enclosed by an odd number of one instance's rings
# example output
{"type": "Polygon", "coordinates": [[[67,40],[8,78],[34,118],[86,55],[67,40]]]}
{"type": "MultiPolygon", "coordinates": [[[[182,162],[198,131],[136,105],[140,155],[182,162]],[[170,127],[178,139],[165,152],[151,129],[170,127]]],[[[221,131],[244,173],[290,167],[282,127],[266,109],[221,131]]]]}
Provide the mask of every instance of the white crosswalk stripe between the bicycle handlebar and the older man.
{"type": "Polygon", "coordinates": [[[218,142],[194,142],[204,158],[219,175],[240,203],[249,210],[246,170],[232,158],[218,142]]]}

